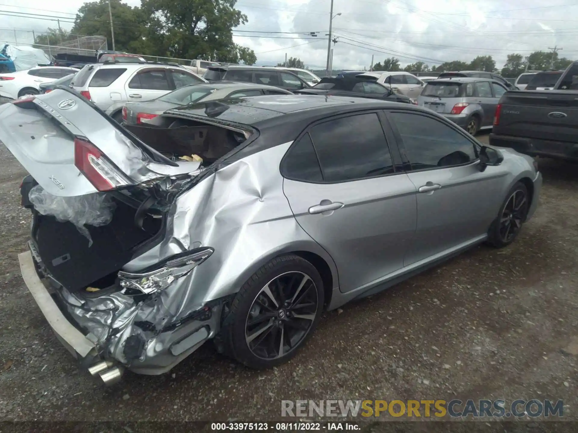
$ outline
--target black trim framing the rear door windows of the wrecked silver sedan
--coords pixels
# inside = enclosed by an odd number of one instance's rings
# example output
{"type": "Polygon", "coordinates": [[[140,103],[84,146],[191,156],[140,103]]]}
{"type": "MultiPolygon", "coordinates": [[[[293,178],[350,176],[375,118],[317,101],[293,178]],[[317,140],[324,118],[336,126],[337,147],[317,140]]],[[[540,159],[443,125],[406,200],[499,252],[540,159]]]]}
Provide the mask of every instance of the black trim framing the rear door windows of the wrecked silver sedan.
{"type": "MultiPolygon", "coordinates": [[[[283,155],[283,158],[281,158],[280,162],[279,162],[279,173],[281,173],[281,176],[284,179],[287,180],[292,180],[295,182],[302,182],[303,184],[316,184],[316,185],[335,185],[335,184],[345,184],[348,182],[359,182],[359,181],[364,181],[367,179],[375,179],[375,178],[380,178],[380,177],[390,177],[390,176],[399,176],[400,174],[405,174],[405,171],[400,170],[399,165],[397,165],[396,161],[397,159],[394,157],[394,152],[391,149],[392,144],[389,141],[389,137],[390,135],[388,135],[387,133],[387,124],[384,124],[383,122],[383,117],[381,114],[383,113],[383,110],[362,110],[362,111],[348,111],[347,113],[340,113],[340,114],[336,114],[336,115],[331,115],[329,117],[324,117],[323,119],[319,119],[309,125],[306,126],[305,129],[303,129],[301,131],[301,133],[299,133],[299,135],[297,136],[297,138],[295,138],[295,140],[293,140],[293,142],[291,143],[291,145],[289,146],[289,148],[285,151],[285,154],[283,155]],[[304,181],[301,179],[295,179],[293,177],[287,176],[286,173],[283,173],[283,170],[281,170],[281,167],[283,166],[283,162],[284,160],[287,158],[287,155],[289,155],[291,149],[295,146],[295,143],[297,143],[299,140],[301,140],[301,137],[303,137],[305,134],[309,134],[309,137],[311,139],[311,142],[313,143],[313,151],[315,152],[315,156],[317,156],[317,164],[319,165],[319,169],[321,170],[321,177],[324,178],[324,174],[323,174],[323,167],[321,167],[321,162],[319,160],[319,155],[317,155],[317,149],[315,148],[315,142],[313,141],[313,136],[311,135],[311,129],[316,126],[316,125],[320,125],[326,122],[331,122],[340,118],[344,118],[344,117],[353,117],[355,115],[361,115],[361,114],[376,114],[377,115],[377,120],[379,121],[379,124],[381,126],[381,130],[383,132],[383,138],[386,142],[387,148],[390,151],[390,158],[391,158],[391,163],[392,163],[392,168],[394,169],[393,173],[388,173],[388,174],[378,174],[377,176],[368,176],[368,177],[362,177],[359,179],[348,179],[348,180],[340,180],[340,181],[335,181],[335,182],[329,182],[329,181],[325,181],[325,179],[321,182],[310,182],[310,181],[304,181]]],[[[387,122],[389,123],[389,122],[387,122]]],[[[397,147],[397,144],[394,143],[394,146],[397,147]]]]}

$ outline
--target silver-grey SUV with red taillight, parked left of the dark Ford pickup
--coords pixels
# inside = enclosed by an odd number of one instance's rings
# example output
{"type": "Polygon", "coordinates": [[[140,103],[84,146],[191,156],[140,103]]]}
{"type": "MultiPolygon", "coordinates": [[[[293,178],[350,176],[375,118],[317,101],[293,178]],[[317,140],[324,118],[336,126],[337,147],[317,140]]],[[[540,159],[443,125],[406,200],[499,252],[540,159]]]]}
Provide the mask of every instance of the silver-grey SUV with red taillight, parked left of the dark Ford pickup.
{"type": "Polygon", "coordinates": [[[443,115],[475,135],[494,123],[500,97],[507,91],[498,81],[451,77],[429,81],[417,98],[417,104],[443,115]]]}

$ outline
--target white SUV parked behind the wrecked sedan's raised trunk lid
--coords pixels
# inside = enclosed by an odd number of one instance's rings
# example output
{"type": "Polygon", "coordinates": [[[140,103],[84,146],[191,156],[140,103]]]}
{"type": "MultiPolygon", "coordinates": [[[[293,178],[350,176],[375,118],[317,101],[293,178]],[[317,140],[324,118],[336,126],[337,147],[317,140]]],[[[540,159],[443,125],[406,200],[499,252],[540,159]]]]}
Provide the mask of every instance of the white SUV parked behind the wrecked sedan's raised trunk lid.
{"type": "Polygon", "coordinates": [[[161,63],[114,63],[86,65],[71,87],[90,99],[117,122],[127,102],[155,99],[188,84],[206,83],[180,66],[161,63]]]}

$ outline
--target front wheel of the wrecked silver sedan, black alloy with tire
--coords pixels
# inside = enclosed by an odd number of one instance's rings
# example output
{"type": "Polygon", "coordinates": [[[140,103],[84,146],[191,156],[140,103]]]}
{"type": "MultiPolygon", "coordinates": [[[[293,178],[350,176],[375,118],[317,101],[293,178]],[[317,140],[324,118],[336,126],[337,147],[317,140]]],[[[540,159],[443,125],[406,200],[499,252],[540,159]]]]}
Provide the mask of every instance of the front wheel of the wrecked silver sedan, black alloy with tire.
{"type": "Polygon", "coordinates": [[[516,240],[526,221],[528,208],[528,188],[522,182],[517,182],[507,193],[498,218],[490,227],[488,243],[493,247],[503,248],[516,240]]]}

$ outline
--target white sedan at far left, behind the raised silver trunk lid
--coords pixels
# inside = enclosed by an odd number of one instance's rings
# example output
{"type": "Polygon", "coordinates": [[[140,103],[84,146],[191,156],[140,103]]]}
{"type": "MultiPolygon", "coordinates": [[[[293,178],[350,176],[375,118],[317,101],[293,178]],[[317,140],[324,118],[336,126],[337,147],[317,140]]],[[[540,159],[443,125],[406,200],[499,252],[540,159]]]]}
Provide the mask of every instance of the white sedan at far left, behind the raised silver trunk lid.
{"type": "Polygon", "coordinates": [[[0,96],[18,99],[27,95],[38,95],[40,84],[51,83],[76,72],[78,69],[74,68],[37,66],[32,69],[0,74],[0,96]]]}

